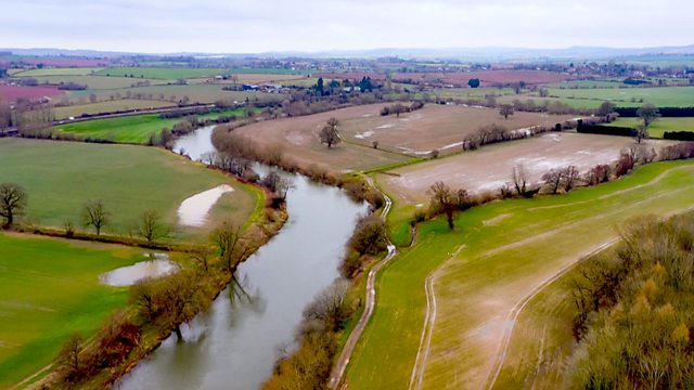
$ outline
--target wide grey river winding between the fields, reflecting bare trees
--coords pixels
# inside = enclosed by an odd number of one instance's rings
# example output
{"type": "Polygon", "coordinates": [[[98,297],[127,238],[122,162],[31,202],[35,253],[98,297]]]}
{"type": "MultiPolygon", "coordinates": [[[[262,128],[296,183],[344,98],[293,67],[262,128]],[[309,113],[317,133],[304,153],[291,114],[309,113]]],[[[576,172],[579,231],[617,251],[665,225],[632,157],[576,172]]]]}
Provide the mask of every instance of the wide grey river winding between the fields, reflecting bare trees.
{"type": "MultiPolygon", "coordinates": [[[[175,151],[197,159],[213,150],[210,133],[211,127],[198,129],[175,151]]],[[[167,338],[115,389],[246,390],[270,377],[280,350],[293,346],[304,308],[338,276],[345,243],[367,212],[337,188],[293,179],[280,233],[240,264],[207,312],[183,326],[183,342],[167,338]]]]}

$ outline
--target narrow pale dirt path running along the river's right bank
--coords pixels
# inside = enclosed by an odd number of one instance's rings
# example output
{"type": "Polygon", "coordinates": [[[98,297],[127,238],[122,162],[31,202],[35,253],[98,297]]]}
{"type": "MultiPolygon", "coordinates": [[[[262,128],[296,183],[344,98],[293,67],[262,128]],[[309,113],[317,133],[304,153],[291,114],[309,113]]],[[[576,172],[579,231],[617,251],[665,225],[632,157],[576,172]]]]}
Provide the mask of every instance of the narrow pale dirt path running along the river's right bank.
{"type": "MultiPolygon", "coordinates": [[[[385,194],[384,197],[386,200],[386,205],[383,208],[383,212],[381,212],[381,216],[385,219],[390,211],[393,202],[385,194]]],[[[345,343],[345,347],[343,348],[337,362],[333,366],[333,370],[331,372],[330,379],[327,381],[329,389],[337,389],[343,380],[343,377],[345,376],[345,369],[347,368],[347,364],[349,364],[349,359],[355,352],[355,347],[357,347],[357,342],[359,341],[361,334],[364,332],[369,320],[371,320],[371,315],[373,314],[373,310],[376,306],[376,275],[378,274],[378,271],[385,264],[387,264],[390,259],[395,257],[396,253],[397,250],[395,248],[395,245],[388,242],[388,255],[386,255],[383,260],[372,266],[369,271],[369,275],[367,276],[367,302],[364,304],[364,311],[361,313],[361,317],[359,317],[357,326],[355,326],[355,328],[351,330],[351,334],[349,334],[349,338],[347,339],[347,342],[345,343]]]]}

